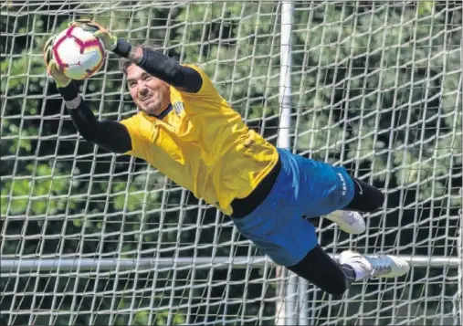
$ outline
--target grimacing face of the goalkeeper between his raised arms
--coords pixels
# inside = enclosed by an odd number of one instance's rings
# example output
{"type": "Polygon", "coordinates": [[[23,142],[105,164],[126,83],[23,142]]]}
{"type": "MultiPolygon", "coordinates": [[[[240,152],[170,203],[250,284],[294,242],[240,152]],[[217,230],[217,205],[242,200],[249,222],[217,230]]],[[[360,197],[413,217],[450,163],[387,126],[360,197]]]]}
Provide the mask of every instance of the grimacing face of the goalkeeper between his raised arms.
{"type": "Polygon", "coordinates": [[[169,106],[171,101],[169,85],[137,65],[132,64],[127,68],[127,85],[132,100],[140,110],[151,115],[159,115],[169,106]]]}

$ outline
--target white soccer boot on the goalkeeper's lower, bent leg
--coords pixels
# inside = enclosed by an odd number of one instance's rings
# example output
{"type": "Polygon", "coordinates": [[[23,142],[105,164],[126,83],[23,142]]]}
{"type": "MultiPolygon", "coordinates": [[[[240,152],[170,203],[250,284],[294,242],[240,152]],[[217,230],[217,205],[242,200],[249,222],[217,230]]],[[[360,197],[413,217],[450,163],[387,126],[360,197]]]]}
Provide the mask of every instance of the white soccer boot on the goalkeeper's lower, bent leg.
{"type": "Polygon", "coordinates": [[[397,278],[410,270],[410,265],[402,258],[389,255],[363,256],[350,250],[342,251],[340,264],[355,270],[355,280],[374,278],[397,278]]]}

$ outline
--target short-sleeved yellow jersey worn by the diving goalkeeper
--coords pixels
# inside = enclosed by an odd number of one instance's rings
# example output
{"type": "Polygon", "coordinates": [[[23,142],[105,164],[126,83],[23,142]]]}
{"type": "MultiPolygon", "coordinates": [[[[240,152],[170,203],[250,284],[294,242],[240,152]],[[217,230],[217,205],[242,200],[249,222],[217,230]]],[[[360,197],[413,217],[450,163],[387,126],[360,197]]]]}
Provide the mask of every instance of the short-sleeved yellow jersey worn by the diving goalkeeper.
{"type": "Polygon", "coordinates": [[[251,131],[217,92],[205,72],[196,93],[171,87],[170,110],[163,118],[140,111],[121,121],[132,150],[196,198],[231,215],[231,202],[245,198],[278,162],[275,146],[251,131]]]}

